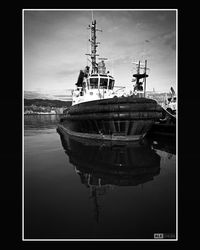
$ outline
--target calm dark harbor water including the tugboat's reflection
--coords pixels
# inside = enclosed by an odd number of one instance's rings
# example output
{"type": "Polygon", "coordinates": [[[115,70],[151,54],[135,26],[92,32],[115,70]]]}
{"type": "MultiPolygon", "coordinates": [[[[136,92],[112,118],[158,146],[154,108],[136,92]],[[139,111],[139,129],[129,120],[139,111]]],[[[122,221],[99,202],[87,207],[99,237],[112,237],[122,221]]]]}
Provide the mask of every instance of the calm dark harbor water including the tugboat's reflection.
{"type": "Polygon", "coordinates": [[[77,140],[60,117],[24,116],[24,239],[175,239],[175,139],[77,140]]]}

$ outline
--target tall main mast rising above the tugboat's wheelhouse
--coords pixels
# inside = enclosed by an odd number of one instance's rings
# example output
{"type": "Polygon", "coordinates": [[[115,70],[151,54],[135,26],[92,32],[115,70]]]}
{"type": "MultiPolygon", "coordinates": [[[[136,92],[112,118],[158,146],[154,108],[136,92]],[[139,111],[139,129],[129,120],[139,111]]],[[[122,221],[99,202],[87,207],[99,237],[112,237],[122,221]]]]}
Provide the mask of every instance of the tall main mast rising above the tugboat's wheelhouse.
{"type": "Polygon", "coordinates": [[[97,47],[98,44],[100,44],[99,42],[96,41],[96,32],[97,31],[101,31],[96,28],[96,20],[92,20],[92,25],[88,26],[88,29],[91,30],[91,39],[89,39],[89,42],[91,43],[91,54],[86,54],[89,55],[91,57],[91,61],[92,61],[92,73],[98,73],[98,67],[97,67],[97,62],[96,62],[96,57],[97,55],[97,47]]]}

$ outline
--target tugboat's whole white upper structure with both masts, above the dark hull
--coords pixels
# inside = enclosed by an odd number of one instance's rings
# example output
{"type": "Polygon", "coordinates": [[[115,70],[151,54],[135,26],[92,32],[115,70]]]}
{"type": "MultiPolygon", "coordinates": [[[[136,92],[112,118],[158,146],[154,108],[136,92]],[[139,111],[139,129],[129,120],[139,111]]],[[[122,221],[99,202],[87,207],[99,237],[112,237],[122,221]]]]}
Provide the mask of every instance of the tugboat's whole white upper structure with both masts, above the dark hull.
{"type": "Polygon", "coordinates": [[[76,88],[72,91],[72,105],[78,103],[113,98],[115,96],[131,96],[133,94],[140,97],[145,97],[146,92],[146,78],[147,74],[147,60],[144,63],[134,62],[136,65],[136,73],[133,74],[133,82],[135,85],[132,91],[124,91],[123,88],[116,90],[115,79],[106,70],[105,60],[107,58],[98,58],[97,63],[97,47],[99,42],[96,41],[96,32],[102,31],[96,28],[96,20],[88,27],[91,29],[91,53],[86,54],[91,58],[91,67],[86,66],[84,70],[80,70],[76,88]],[[143,72],[141,72],[143,71],[143,72]]]}

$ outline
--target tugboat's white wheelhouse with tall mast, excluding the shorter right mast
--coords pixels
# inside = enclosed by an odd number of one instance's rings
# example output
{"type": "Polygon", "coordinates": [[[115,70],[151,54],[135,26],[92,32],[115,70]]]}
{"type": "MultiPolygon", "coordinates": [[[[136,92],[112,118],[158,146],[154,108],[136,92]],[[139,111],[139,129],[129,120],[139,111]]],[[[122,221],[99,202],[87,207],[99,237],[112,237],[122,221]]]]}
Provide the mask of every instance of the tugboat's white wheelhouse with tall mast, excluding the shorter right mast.
{"type": "Polygon", "coordinates": [[[91,53],[86,54],[91,58],[91,67],[86,66],[84,70],[80,70],[76,88],[72,92],[72,105],[113,98],[115,79],[110,72],[106,70],[105,60],[107,58],[99,58],[97,63],[97,47],[99,42],[96,41],[96,32],[102,31],[96,28],[96,20],[92,21],[92,25],[88,27],[91,30],[91,53]]]}

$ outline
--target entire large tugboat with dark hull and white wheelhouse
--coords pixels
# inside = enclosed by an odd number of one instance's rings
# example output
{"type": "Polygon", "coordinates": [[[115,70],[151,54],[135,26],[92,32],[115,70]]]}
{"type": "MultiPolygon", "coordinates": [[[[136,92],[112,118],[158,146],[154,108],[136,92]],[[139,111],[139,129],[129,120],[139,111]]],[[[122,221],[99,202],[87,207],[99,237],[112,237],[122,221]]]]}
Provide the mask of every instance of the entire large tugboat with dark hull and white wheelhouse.
{"type": "Polygon", "coordinates": [[[162,107],[145,98],[147,61],[139,62],[133,75],[136,84],[129,93],[115,91],[115,79],[106,70],[105,60],[97,63],[96,20],[91,30],[91,67],[80,70],[72,92],[72,106],[64,110],[58,128],[75,137],[132,141],[143,138],[155,121],[162,117],[162,107]],[[143,71],[143,72],[141,72],[143,71]],[[142,80],[143,79],[143,80],[142,80]]]}

